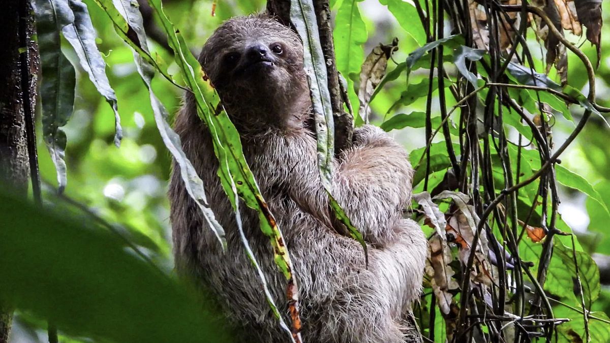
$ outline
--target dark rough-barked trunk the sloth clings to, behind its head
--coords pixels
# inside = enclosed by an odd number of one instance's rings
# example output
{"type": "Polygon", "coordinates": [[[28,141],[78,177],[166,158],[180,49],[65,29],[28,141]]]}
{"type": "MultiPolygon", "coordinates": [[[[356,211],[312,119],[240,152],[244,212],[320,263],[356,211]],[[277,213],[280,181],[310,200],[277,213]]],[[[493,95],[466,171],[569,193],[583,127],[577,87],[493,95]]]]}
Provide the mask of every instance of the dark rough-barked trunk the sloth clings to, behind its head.
{"type": "MultiPolygon", "coordinates": [[[[343,100],[339,87],[339,74],[335,60],[335,49],[332,41],[332,20],[328,0],[314,0],[314,10],[318,22],[320,45],[326,61],[328,90],[331,93],[331,106],[335,128],[335,153],[340,154],[352,141],[353,115],[343,110],[343,100]]],[[[278,20],[290,26],[290,0],[268,0],[267,12],[277,16],[278,20]]]]}

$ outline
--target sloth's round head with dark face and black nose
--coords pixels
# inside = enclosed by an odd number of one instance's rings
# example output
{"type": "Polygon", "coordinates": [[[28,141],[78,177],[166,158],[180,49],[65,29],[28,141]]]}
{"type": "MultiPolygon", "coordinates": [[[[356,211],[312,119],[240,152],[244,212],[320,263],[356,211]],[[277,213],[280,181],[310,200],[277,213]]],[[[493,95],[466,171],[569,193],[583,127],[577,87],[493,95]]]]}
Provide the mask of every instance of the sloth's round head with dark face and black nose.
{"type": "Polygon", "coordinates": [[[225,21],[199,62],[238,126],[281,125],[309,108],[303,44],[269,16],[225,21]]]}

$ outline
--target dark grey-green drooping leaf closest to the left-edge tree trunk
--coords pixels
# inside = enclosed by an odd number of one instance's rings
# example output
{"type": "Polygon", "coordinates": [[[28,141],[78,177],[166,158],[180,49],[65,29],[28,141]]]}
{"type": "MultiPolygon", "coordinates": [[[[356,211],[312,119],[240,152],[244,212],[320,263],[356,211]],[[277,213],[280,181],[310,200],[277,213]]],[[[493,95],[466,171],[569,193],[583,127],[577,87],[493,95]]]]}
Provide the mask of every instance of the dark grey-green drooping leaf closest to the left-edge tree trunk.
{"type": "Polygon", "coordinates": [[[66,187],[66,134],[61,129],[72,116],[76,73],[61,50],[62,27],[73,23],[74,13],[65,0],[32,1],[42,63],[40,97],[43,139],[57,171],[57,188],[66,187]]]}

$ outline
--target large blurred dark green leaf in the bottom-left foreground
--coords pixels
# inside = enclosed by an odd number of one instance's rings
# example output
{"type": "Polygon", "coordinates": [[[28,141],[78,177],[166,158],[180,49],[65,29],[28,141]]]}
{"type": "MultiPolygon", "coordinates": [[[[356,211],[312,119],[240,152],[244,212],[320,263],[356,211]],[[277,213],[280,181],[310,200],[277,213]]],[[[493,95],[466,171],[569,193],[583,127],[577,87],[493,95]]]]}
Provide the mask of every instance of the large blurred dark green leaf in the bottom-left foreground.
{"type": "Polygon", "coordinates": [[[210,301],[108,231],[4,194],[0,222],[1,303],[98,342],[232,342],[210,301]]]}

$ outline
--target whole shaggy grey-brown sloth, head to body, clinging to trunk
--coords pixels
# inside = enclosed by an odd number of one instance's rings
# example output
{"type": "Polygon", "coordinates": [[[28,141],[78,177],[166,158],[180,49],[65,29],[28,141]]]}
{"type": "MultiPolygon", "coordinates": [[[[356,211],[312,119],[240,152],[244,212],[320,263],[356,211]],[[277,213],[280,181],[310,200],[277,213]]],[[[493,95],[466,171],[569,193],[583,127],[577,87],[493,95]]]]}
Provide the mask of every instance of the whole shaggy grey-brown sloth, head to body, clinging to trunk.
{"type": "MultiPolygon", "coordinates": [[[[402,218],[412,179],[403,148],[367,125],[356,130],[354,145],[334,165],[334,195],[369,244],[365,269],[361,245],[333,228],[336,220],[320,184],[316,141],[305,124],[311,103],[298,36],[266,16],[232,18],[209,38],[199,61],[242,135],[246,160],[284,233],[300,288],[304,342],[414,339],[404,316],[420,294],[427,245],[417,223],[402,218]],[[253,67],[245,57],[253,44],[271,48],[278,42],[282,53],[270,53],[265,63],[253,67]],[[235,52],[239,59],[228,63],[227,54],[235,52]]],[[[175,129],[228,241],[223,253],[174,163],[169,194],[178,269],[217,295],[227,316],[245,327],[243,341],[287,342],[240,242],[210,135],[190,93],[175,129]]],[[[245,234],[276,304],[285,304],[286,282],[274,265],[270,242],[256,213],[241,209],[245,234]]],[[[282,309],[286,312],[286,306],[282,309]]]]}

